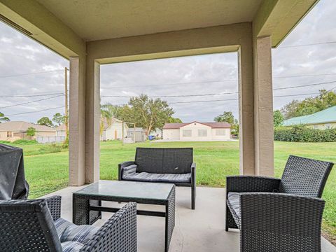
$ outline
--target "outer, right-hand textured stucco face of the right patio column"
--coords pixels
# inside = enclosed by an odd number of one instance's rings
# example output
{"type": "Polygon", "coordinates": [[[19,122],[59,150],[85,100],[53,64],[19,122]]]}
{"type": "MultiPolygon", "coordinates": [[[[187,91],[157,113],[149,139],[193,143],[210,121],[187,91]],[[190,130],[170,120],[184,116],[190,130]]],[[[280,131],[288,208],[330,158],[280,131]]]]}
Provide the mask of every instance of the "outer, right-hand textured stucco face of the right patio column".
{"type": "Polygon", "coordinates": [[[262,176],[274,176],[271,46],[270,36],[253,41],[255,175],[262,176]]]}

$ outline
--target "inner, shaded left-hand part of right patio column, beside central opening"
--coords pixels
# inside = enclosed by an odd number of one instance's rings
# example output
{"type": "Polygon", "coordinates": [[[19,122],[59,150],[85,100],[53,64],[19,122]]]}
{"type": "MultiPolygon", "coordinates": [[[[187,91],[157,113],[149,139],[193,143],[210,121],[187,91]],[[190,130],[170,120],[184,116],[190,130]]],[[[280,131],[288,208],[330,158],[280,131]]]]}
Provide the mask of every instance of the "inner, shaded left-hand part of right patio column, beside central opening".
{"type": "MultiPolygon", "coordinates": [[[[251,38],[251,36],[250,36],[251,38]]],[[[240,174],[254,175],[253,50],[244,43],[238,51],[240,174]]]]}

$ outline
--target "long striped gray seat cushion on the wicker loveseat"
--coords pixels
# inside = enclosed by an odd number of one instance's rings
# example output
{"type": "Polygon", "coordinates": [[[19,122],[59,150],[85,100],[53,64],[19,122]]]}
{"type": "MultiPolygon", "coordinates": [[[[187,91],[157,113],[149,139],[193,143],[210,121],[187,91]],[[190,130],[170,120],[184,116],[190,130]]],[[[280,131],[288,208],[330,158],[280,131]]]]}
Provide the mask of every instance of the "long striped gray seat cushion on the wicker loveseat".
{"type": "Polygon", "coordinates": [[[148,182],[191,183],[191,173],[152,174],[148,172],[134,172],[132,174],[123,174],[123,179],[132,181],[148,181],[148,182]]]}

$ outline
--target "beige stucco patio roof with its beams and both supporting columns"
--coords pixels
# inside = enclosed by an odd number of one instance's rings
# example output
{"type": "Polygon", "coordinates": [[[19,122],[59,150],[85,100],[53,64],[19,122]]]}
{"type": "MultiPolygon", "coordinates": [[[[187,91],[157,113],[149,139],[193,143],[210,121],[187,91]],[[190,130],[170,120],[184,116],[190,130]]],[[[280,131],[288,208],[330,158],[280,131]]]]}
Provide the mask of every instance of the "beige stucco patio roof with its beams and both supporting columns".
{"type": "Polygon", "coordinates": [[[100,64],[238,52],[241,174],[274,174],[272,52],[318,0],[0,0],[70,60],[69,183],[99,179],[100,64]]]}

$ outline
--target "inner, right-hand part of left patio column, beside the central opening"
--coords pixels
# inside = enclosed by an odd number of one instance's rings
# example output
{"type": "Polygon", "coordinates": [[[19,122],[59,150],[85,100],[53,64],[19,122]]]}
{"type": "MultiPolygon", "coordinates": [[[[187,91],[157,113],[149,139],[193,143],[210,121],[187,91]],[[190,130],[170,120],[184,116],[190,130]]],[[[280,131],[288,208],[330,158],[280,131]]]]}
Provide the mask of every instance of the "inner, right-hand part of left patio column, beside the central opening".
{"type": "Polygon", "coordinates": [[[99,180],[100,65],[87,59],[85,116],[85,183],[99,180]]]}

